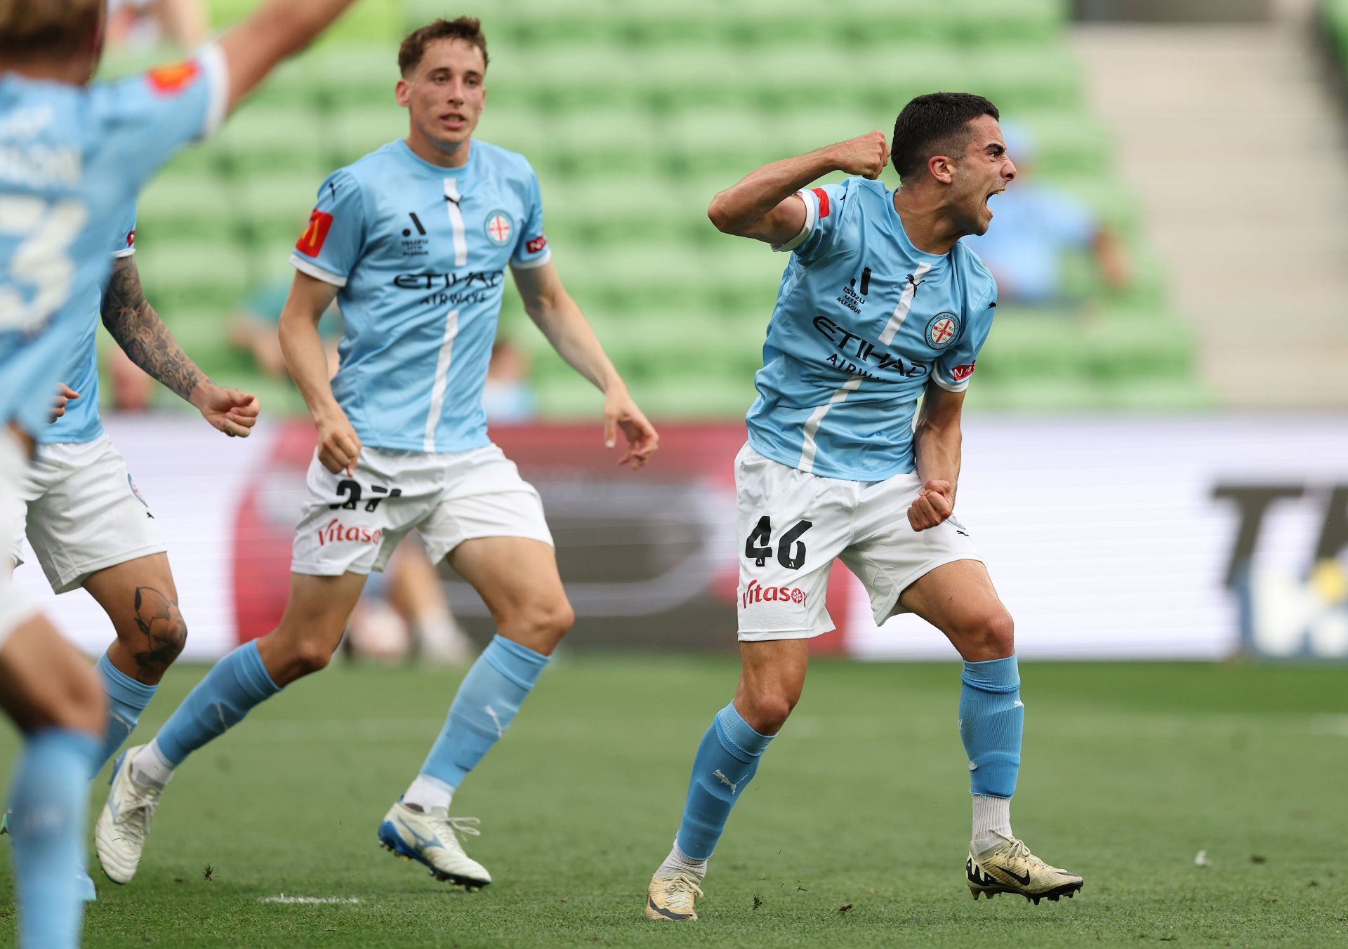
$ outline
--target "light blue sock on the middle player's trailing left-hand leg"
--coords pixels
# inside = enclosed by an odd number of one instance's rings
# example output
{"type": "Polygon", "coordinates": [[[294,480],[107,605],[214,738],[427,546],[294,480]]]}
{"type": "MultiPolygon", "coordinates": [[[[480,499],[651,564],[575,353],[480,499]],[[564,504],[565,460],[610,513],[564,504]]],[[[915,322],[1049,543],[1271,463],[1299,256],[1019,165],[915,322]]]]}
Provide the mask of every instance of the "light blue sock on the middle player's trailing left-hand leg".
{"type": "Polygon", "coordinates": [[[217,662],[168,716],[155,736],[159,751],[168,764],[178,767],[187,755],[237,725],[253,705],[278,692],[280,686],[271,681],[257,654],[257,640],[249,640],[217,662]]]}

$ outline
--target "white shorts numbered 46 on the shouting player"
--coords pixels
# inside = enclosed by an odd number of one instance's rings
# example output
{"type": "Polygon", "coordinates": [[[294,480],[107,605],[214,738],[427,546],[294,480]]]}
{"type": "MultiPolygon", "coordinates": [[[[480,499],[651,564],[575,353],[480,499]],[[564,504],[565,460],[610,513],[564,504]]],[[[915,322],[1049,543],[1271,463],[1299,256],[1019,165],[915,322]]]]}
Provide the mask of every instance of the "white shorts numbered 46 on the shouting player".
{"type": "Polygon", "coordinates": [[[909,526],[921,488],[915,473],[845,481],[741,448],[735,457],[740,639],[807,639],[832,630],[824,599],[838,558],[865,585],[876,623],[905,612],[899,594],[923,574],[952,561],[981,561],[954,518],[925,531],[909,526]]]}

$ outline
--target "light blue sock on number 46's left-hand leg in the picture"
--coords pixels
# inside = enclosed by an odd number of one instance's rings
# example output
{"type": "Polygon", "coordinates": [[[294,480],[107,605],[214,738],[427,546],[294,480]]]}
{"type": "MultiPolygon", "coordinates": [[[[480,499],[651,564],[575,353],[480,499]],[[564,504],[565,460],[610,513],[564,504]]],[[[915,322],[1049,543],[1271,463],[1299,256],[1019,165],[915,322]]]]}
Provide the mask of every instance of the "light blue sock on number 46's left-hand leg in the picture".
{"type": "Polygon", "coordinates": [[[731,702],[716,713],[693,758],[683,821],[674,843],[693,860],[706,860],[725,829],[731,807],[758,771],[771,735],[755,732],[731,702]]]}

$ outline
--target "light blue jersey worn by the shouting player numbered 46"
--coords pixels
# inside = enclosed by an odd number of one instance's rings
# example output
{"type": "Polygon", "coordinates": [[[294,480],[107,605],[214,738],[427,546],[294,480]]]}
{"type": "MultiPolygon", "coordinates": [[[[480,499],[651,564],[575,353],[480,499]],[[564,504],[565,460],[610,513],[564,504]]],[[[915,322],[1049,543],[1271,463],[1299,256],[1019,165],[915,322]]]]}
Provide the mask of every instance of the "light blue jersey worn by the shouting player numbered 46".
{"type": "Polygon", "coordinates": [[[931,379],[961,392],[992,329],[996,283],[977,255],[919,251],[894,191],[848,178],[801,191],[806,221],[754,376],[759,454],[802,472],[882,481],[914,470],[913,412],[931,379]]]}

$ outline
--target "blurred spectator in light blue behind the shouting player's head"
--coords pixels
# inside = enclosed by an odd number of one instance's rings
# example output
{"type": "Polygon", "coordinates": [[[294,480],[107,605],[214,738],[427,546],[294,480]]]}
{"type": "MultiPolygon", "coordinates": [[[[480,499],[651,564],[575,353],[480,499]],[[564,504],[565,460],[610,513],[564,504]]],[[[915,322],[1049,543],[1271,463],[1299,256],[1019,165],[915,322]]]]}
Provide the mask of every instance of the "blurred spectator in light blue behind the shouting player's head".
{"type": "Polygon", "coordinates": [[[1004,123],[1002,133],[1016,166],[1016,178],[991,201],[992,226],[964,243],[983,257],[998,280],[998,295],[1019,303],[1058,303],[1062,259],[1086,251],[1105,286],[1117,290],[1131,280],[1119,239],[1089,208],[1051,185],[1034,179],[1035,146],[1030,133],[1004,123]]]}

